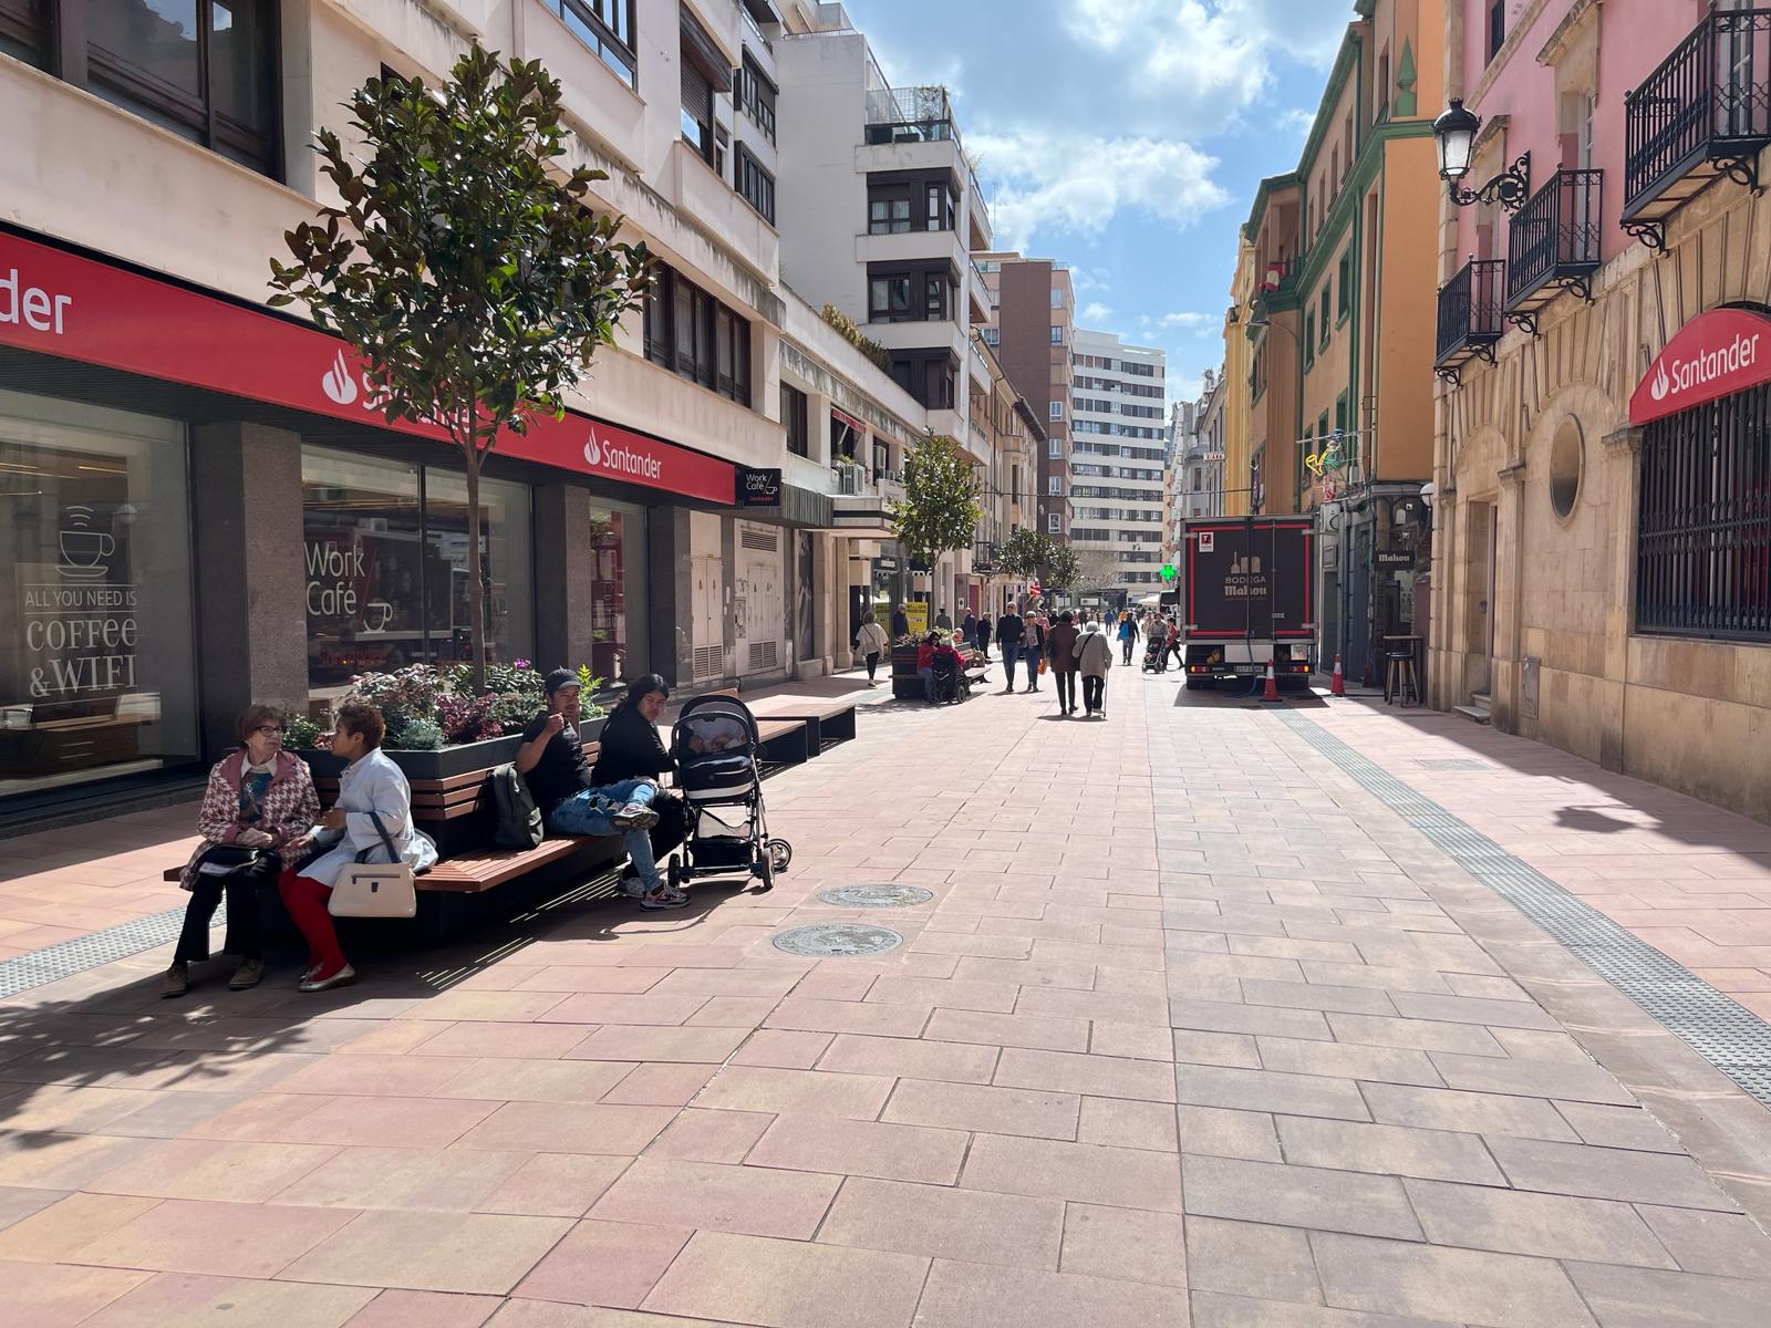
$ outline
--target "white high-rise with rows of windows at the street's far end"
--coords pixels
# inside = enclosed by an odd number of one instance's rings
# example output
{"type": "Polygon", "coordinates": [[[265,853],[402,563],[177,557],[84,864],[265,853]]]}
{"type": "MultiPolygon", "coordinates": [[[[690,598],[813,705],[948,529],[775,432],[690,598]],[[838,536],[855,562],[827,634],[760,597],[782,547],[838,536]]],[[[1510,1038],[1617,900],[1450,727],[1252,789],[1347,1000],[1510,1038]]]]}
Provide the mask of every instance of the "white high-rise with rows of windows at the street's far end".
{"type": "Polygon", "coordinates": [[[1070,535],[1080,590],[1137,597],[1162,581],[1165,354],[1079,328],[1071,365],[1070,535]]]}

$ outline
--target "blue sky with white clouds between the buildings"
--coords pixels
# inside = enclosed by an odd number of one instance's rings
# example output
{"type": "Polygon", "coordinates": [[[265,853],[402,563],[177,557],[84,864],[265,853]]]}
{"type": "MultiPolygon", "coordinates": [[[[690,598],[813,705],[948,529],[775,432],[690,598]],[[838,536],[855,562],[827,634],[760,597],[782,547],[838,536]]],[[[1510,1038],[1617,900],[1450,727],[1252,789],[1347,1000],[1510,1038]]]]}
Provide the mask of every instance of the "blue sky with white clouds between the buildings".
{"type": "Polygon", "coordinates": [[[997,248],[1068,262],[1079,322],[1164,347],[1171,398],[1195,393],[1236,227],[1298,163],[1351,0],[845,4],[893,85],[953,92],[997,248]]]}

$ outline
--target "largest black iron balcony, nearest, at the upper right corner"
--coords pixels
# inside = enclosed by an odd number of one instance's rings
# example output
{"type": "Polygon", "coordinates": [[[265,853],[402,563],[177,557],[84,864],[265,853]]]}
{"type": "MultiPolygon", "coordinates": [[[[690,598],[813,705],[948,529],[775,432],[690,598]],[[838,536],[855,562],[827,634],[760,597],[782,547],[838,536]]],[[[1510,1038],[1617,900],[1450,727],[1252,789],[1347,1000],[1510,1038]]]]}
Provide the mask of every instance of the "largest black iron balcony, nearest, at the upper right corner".
{"type": "Polygon", "coordinates": [[[1711,184],[1759,188],[1771,145],[1771,9],[1714,11],[1624,96],[1622,228],[1667,248],[1667,221],[1711,184]]]}

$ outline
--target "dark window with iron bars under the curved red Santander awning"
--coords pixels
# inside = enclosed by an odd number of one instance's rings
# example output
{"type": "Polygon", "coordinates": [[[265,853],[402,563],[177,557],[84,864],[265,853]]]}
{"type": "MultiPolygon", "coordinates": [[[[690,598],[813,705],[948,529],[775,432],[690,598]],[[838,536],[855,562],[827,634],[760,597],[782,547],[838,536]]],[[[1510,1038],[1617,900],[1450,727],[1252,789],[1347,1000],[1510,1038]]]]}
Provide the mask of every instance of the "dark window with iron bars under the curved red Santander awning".
{"type": "Polygon", "coordinates": [[[1636,630],[1771,641],[1771,384],[1647,425],[1636,630]]]}

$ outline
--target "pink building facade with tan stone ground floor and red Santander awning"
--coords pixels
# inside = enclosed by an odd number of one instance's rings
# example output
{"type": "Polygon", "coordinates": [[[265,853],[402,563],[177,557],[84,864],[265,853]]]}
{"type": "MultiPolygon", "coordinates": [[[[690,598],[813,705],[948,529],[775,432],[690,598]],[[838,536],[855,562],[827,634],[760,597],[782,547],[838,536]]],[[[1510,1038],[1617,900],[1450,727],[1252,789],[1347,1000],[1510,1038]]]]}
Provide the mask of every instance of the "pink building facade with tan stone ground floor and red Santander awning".
{"type": "Polygon", "coordinates": [[[1429,699],[1771,820],[1771,7],[1452,0],[1447,92],[1429,699]]]}

